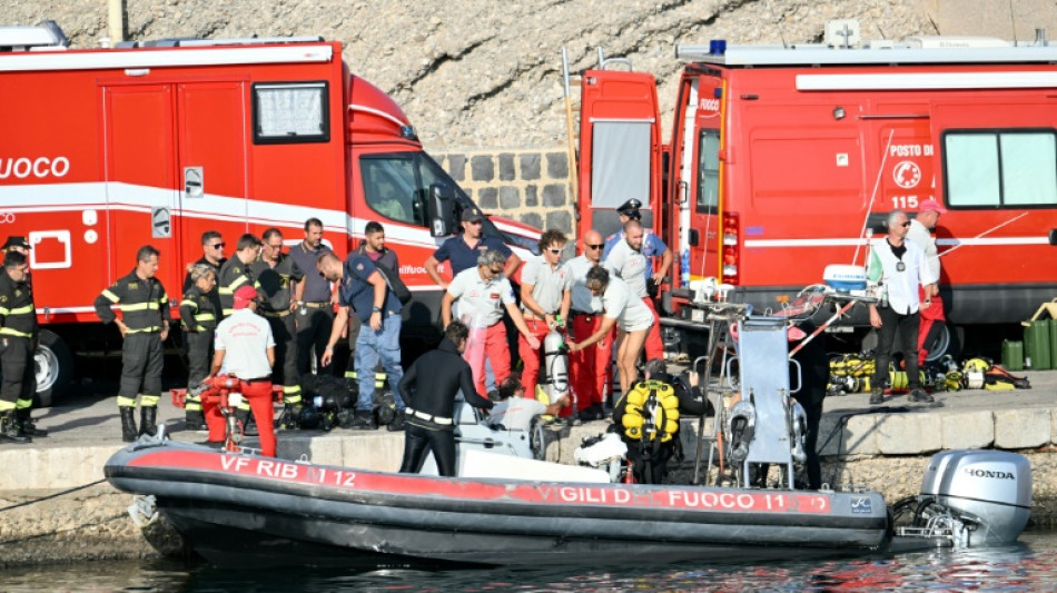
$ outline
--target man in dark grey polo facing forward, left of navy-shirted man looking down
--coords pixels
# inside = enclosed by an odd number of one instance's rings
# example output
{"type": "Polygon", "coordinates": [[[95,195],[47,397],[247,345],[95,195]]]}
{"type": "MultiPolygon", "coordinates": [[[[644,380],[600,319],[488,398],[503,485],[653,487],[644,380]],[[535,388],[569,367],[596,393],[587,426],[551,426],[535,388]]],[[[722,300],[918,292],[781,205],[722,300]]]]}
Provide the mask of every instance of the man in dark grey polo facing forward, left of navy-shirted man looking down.
{"type": "Polygon", "coordinates": [[[322,369],[322,358],[330,327],[334,325],[334,303],[330,283],[316,271],[316,261],[323,254],[333,253],[323,245],[323,221],[309,218],[305,221],[305,240],[290,248],[290,257],[303,270],[309,270],[294,290],[297,317],[297,374],[312,373],[312,357],[316,368],[322,369]]]}

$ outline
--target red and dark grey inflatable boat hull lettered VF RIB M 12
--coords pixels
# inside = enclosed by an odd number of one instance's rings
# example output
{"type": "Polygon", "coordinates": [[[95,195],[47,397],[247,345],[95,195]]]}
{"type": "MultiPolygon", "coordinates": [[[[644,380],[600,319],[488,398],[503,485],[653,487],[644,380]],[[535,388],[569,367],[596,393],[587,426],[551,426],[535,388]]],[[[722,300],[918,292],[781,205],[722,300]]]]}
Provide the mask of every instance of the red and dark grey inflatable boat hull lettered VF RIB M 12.
{"type": "Polygon", "coordinates": [[[877,493],[443,478],[172,442],[130,445],[106,475],[154,495],[220,565],[818,557],[877,551],[889,533],[877,493]]]}

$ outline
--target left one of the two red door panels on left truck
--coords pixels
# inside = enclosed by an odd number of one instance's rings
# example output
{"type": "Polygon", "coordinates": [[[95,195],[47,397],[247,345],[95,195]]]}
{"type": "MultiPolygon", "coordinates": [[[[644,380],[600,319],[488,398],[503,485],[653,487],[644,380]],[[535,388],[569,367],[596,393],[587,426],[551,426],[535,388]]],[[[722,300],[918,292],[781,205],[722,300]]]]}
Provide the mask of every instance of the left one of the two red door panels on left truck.
{"type": "Polygon", "coordinates": [[[139,247],[152,245],[161,251],[158,277],[172,290],[171,274],[166,271],[180,265],[174,257],[172,210],[178,198],[172,88],[103,87],[103,111],[109,280],[128,274],[139,247]]]}

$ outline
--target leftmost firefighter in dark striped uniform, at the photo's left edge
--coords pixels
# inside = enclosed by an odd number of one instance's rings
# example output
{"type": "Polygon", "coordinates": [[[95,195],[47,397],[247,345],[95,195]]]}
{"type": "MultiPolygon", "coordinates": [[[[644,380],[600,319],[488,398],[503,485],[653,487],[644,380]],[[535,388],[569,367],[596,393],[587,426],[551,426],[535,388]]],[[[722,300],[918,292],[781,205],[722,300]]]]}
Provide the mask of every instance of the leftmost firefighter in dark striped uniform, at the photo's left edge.
{"type": "Polygon", "coordinates": [[[4,254],[0,273],[0,443],[29,443],[36,432],[30,406],[37,391],[37,309],[28,280],[26,256],[16,250],[4,254]]]}

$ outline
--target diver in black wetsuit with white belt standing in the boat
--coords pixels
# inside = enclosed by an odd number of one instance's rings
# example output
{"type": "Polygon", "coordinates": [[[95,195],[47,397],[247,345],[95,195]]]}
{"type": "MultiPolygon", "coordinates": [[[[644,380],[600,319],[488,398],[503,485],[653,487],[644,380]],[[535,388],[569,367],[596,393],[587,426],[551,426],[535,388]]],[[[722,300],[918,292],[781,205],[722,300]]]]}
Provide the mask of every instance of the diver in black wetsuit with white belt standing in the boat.
{"type": "Polygon", "coordinates": [[[468,404],[492,409],[492,402],[477,395],[470,364],[461,356],[466,349],[468,336],[470,329],[463,323],[452,322],[444,330],[444,339],[437,349],[422,355],[401,379],[401,397],[407,404],[401,473],[417,474],[432,449],[437,473],[448,477],[455,475],[455,423],[452,412],[460,389],[468,404]],[[418,380],[419,375],[422,380],[418,380]]]}

